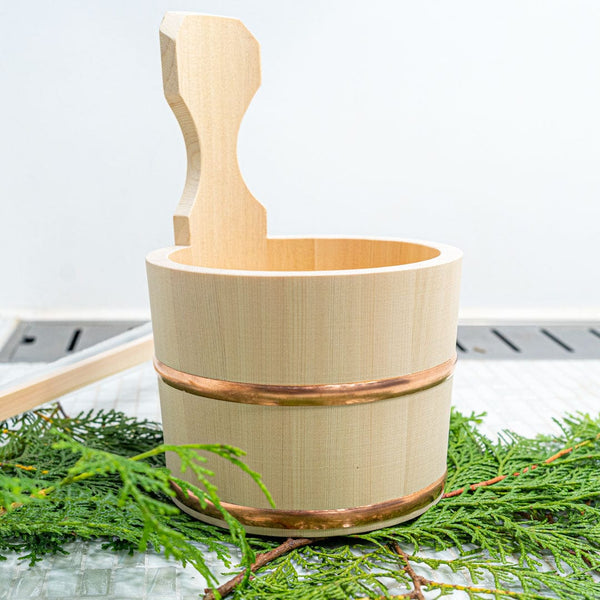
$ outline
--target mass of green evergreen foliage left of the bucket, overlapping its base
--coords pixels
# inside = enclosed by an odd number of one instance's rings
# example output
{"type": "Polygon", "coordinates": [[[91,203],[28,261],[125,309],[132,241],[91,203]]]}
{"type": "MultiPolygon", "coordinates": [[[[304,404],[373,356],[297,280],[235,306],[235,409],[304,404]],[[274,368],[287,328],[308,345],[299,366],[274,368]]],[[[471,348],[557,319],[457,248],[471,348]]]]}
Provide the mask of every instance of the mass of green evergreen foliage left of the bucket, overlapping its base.
{"type": "Polygon", "coordinates": [[[165,445],[155,423],[115,411],[74,419],[58,409],[36,411],[2,423],[0,429],[0,552],[25,553],[33,565],[77,537],[102,538],[107,548],[131,551],[151,545],[192,564],[215,583],[202,551],[190,541],[205,544],[226,564],[227,544],[233,544],[240,548],[244,566],[254,561],[254,548],[264,547],[260,540],[249,543],[226,511],[228,532],[188,517],[170,502],[173,480],[220,507],[203,452],[238,465],[264,489],[258,474],[240,461],[243,452],[237,448],[165,445]],[[179,455],[182,468],[192,469],[202,488],[170,475],[164,466],[166,451],[179,455]]]}

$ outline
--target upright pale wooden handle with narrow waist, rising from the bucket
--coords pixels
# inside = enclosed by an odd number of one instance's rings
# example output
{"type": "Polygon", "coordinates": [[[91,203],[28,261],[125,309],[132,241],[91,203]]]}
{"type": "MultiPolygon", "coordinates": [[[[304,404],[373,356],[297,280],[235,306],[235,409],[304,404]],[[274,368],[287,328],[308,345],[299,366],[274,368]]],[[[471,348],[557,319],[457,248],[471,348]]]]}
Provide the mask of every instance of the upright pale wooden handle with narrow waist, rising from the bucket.
{"type": "Polygon", "coordinates": [[[244,268],[264,252],[266,212],[237,162],[240,123],[260,85],[260,50],[237,19],[168,12],[160,27],[163,84],[185,140],[187,179],[175,243],[193,264],[244,268]]]}

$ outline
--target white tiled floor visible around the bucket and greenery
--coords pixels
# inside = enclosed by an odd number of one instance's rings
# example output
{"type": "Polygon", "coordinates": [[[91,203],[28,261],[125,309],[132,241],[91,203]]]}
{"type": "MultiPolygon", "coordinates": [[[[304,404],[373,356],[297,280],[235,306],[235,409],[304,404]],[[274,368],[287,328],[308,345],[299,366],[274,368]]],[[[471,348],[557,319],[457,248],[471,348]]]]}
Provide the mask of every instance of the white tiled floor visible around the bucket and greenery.
{"type": "MultiPolygon", "coordinates": [[[[0,383],[35,368],[0,365],[0,383]]],[[[88,386],[61,399],[76,414],[115,408],[160,420],[156,378],[150,363],[88,386]]],[[[508,428],[523,435],[555,429],[553,417],[567,412],[600,412],[600,361],[459,361],[454,405],[463,412],[487,412],[485,431],[508,428]]],[[[218,568],[214,557],[212,564],[218,568]]],[[[16,557],[0,564],[0,600],[35,597],[116,600],[197,598],[205,582],[154,553],[128,557],[102,551],[99,544],[74,544],[67,557],[49,558],[34,569],[16,557]]],[[[456,596],[459,597],[459,596],[456,596]]]]}

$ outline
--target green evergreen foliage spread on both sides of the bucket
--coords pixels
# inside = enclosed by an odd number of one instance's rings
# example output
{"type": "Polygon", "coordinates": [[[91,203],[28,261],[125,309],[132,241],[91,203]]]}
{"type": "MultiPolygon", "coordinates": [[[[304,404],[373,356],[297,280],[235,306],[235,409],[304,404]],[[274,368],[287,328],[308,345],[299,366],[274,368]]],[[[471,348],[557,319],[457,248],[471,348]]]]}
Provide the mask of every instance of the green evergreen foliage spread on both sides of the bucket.
{"type": "MultiPolygon", "coordinates": [[[[316,540],[244,578],[234,598],[440,597],[600,599],[600,419],[568,416],[561,434],[498,441],[479,430],[481,415],[453,412],[446,497],[409,523],[345,538],[316,540]],[[483,482],[483,483],[482,483],[483,482]],[[478,485],[474,485],[478,484],[478,485]],[[462,491],[459,491],[462,490],[462,491]],[[454,492],[454,493],[452,493],[454,492]],[[438,552],[433,554],[432,551],[438,552]],[[456,583],[452,574],[463,576],[456,583]]],[[[164,452],[179,454],[219,505],[203,453],[234,462],[262,486],[228,446],[162,444],[160,429],[114,411],[69,419],[58,409],[0,424],[0,552],[31,563],[75,537],[114,549],[147,544],[191,563],[211,584],[199,542],[232,569],[281,540],[244,536],[195,521],[171,502],[164,452]]],[[[249,573],[249,570],[247,571],[249,573]]],[[[201,590],[199,590],[201,592],[201,590]]]]}

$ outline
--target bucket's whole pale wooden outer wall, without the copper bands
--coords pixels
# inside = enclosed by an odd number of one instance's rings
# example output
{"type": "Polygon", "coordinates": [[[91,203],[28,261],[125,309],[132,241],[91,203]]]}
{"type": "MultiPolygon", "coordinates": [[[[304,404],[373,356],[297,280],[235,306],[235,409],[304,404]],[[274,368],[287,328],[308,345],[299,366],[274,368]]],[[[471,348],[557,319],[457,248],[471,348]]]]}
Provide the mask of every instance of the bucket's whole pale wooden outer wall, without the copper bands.
{"type": "MultiPolygon", "coordinates": [[[[437,256],[422,262],[336,271],[209,269],[170,260],[176,248],[156,251],[147,269],[157,357],[204,377],[282,385],[385,379],[434,367],[455,353],[461,254],[429,249],[437,256]]],[[[281,509],[374,504],[417,492],[446,468],[451,380],[332,407],[235,404],[163,382],[159,389],[169,443],[243,448],[281,509]]],[[[210,461],[225,501],[266,507],[247,476],[210,461]]],[[[178,469],[173,457],[168,465],[178,469]]]]}

